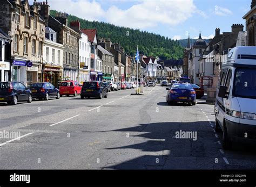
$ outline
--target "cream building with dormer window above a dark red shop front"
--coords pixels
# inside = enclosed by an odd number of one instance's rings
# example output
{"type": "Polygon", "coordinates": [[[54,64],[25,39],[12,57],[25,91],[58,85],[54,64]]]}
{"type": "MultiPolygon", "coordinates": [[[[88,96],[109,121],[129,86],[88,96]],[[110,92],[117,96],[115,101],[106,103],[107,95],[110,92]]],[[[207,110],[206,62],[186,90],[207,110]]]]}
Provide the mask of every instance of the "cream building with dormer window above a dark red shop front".
{"type": "MultiPolygon", "coordinates": [[[[45,28],[45,40],[43,46],[43,81],[51,82],[57,87],[63,70],[63,45],[56,42],[56,32],[51,28],[45,28]]],[[[41,80],[39,80],[41,81],[41,80]]]]}

